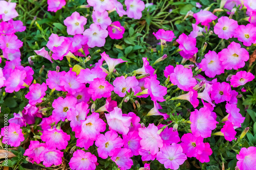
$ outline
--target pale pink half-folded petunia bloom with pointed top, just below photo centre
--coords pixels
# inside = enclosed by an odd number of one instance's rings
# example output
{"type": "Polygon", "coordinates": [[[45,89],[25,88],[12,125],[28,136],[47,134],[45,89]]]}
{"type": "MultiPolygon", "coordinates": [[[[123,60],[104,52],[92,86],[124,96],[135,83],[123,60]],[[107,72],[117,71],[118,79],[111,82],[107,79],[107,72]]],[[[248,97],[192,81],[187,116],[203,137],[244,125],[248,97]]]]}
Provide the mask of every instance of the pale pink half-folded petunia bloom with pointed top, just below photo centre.
{"type": "Polygon", "coordinates": [[[120,134],[126,135],[129,132],[132,117],[122,116],[122,110],[115,107],[110,113],[105,113],[109,128],[120,134]]]}

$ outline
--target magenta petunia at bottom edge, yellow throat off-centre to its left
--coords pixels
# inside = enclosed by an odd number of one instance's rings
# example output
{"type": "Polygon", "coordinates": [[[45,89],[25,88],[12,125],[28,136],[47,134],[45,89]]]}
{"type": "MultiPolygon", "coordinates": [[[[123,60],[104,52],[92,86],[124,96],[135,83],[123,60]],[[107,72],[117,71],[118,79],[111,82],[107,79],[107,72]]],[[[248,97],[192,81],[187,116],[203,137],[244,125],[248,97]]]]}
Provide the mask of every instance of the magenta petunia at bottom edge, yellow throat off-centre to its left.
{"type": "Polygon", "coordinates": [[[131,157],[133,156],[132,151],[130,149],[121,148],[116,149],[111,157],[111,160],[116,162],[117,166],[120,170],[130,169],[133,165],[133,160],[131,157]]]}

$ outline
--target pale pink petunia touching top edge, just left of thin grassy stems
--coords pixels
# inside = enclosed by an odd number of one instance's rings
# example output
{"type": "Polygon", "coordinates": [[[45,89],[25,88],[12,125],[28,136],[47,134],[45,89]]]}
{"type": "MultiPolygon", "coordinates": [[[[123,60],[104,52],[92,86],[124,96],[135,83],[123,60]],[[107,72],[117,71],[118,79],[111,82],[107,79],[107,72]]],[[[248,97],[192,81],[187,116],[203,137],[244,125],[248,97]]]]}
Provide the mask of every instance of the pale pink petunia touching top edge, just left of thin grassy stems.
{"type": "Polygon", "coordinates": [[[142,17],[142,11],[145,9],[145,4],[141,0],[125,0],[126,14],[130,18],[140,19],[142,17]]]}

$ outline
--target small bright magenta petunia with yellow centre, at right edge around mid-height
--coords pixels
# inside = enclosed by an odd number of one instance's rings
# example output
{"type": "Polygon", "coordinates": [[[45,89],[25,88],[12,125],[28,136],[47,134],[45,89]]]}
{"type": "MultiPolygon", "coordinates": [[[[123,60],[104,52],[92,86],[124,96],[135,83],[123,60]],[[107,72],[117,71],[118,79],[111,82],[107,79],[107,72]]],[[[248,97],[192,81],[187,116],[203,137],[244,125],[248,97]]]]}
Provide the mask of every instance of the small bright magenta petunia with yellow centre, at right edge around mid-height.
{"type": "Polygon", "coordinates": [[[243,86],[247,82],[250,82],[254,79],[254,75],[246,71],[238,71],[236,75],[233,75],[230,80],[230,84],[233,87],[243,86]]]}

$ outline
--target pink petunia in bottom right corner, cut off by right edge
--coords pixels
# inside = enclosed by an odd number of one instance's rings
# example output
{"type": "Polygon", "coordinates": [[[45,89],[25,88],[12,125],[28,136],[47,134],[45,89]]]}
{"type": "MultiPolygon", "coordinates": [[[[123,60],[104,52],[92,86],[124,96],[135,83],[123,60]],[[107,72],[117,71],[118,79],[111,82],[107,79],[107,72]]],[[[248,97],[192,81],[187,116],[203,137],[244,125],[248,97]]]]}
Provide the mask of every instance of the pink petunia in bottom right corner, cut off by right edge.
{"type": "Polygon", "coordinates": [[[237,155],[240,170],[253,170],[256,164],[256,147],[242,148],[237,155]]]}

